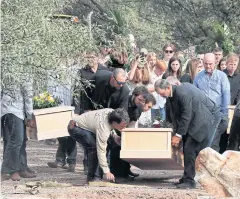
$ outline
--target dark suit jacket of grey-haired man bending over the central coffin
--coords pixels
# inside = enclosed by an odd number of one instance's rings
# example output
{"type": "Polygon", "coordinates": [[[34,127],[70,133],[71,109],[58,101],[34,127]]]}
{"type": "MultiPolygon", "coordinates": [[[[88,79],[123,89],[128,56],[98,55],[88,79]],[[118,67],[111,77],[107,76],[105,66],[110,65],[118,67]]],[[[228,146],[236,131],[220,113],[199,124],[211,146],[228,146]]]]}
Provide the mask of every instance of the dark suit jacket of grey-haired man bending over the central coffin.
{"type": "Polygon", "coordinates": [[[215,104],[197,87],[190,83],[172,86],[169,97],[173,117],[176,121],[177,134],[189,134],[198,142],[211,132],[214,114],[218,112],[215,104]]]}

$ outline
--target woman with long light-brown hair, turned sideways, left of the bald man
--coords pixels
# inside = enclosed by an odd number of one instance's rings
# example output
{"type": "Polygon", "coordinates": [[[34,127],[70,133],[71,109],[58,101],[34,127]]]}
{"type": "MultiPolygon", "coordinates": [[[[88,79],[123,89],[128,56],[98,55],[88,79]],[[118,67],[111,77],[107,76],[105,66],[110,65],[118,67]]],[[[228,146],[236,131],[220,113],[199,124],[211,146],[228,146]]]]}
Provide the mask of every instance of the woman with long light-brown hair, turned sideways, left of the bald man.
{"type": "Polygon", "coordinates": [[[201,62],[196,58],[189,60],[186,73],[181,77],[180,82],[189,82],[192,84],[195,76],[200,72],[200,69],[198,68],[200,64],[201,62]]]}

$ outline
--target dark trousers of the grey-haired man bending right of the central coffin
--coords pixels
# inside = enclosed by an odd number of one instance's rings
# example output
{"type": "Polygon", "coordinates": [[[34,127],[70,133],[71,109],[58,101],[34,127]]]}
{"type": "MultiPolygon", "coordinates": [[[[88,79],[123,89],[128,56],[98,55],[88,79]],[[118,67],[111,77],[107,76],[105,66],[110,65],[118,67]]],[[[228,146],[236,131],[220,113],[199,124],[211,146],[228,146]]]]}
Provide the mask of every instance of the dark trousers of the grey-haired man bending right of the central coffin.
{"type": "Polygon", "coordinates": [[[208,147],[211,134],[206,137],[202,142],[194,140],[189,134],[182,137],[183,140],[183,154],[184,154],[184,182],[194,182],[195,172],[195,161],[198,153],[208,147]]]}

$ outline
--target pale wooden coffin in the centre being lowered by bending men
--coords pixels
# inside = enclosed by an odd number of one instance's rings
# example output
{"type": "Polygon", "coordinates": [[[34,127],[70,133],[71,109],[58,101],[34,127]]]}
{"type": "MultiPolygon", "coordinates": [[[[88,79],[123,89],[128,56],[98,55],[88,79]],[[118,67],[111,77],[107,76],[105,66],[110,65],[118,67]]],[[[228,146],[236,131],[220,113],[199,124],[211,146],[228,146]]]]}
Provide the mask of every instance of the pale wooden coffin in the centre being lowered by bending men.
{"type": "Polygon", "coordinates": [[[143,170],[181,170],[183,154],[171,147],[171,128],[126,128],[120,158],[143,170]]]}

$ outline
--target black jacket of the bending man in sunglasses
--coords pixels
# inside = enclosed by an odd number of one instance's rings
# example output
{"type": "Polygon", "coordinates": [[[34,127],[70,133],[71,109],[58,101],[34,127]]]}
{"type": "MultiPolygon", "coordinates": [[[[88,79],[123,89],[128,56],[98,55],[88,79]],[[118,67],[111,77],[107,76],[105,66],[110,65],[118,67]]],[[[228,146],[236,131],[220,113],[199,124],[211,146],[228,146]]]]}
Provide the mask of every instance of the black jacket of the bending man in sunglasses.
{"type": "Polygon", "coordinates": [[[93,109],[99,108],[125,108],[128,110],[129,89],[123,85],[120,89],[110,86],[112,72],[99,70],[95,75],[95,88],[92,92],[93,109]]]}

